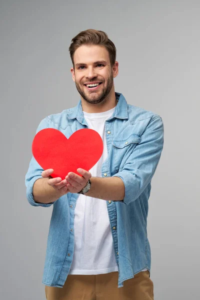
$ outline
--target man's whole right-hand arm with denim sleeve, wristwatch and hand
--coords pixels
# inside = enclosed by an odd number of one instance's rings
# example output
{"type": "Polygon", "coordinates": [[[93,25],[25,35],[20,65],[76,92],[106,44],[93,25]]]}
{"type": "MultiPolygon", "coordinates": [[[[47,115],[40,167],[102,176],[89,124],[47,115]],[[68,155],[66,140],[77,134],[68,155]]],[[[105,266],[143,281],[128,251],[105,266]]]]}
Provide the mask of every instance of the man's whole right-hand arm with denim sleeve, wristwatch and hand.
{"type": "Polygon", "coordinates": [[[118,173],[112,177],[98,178],[91,177],[89,172],[78,169],[83,177],[69,172],[65,177],[70,183],[67,187],[70,192],[78,192],[91,178],[91,188],[85,195],[104,200],[119,200],[129,204],[138,198],[151,181],[162,147],[163,123],[160,116],[156,115],[148,123],[140,143],[133,150],[131,147],[128,148],[129,155],[118,173]]]}

